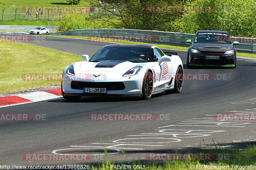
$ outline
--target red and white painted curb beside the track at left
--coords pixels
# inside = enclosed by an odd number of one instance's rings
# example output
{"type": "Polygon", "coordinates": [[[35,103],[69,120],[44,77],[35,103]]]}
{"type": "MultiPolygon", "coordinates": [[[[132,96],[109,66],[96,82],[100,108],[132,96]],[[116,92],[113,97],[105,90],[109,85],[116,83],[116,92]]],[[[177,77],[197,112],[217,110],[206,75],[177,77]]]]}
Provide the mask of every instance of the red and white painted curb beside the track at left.
{"type": "Polygon", "coordinates": [[[18,94],[14,96],[5,96],[5,97],[0,97],[0,107],[7,107],[7,106],[19,105],[19,104],[24,104],[29,102],[55,99],[60,97],[62,97],[61,88],[18,94]]]}

